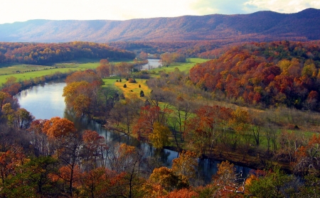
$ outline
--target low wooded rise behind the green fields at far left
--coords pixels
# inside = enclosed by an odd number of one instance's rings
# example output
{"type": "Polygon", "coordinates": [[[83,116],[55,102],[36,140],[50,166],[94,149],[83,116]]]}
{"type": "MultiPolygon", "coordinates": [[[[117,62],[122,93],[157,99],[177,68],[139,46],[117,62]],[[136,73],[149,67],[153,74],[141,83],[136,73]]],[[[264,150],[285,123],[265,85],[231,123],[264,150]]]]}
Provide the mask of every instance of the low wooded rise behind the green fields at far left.
{"type": "Polygon", "coordinates": [[[50,65],[53,62],[76,58],[134,59],[127,50],[118,50],[105,44],[89,42],[70,43],[0,43],[0,63],[19,62],[50,65]]]}

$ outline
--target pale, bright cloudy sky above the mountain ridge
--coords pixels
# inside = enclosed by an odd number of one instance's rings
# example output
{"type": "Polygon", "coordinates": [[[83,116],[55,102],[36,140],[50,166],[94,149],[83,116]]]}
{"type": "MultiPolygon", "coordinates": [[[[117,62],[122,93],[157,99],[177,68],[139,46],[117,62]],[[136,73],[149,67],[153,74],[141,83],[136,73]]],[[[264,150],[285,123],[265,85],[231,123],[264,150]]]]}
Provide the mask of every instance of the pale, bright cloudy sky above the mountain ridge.
{"type": "Polygon", "coordinates": [[[7,0],[0,24],[30,19],[127,20],[131,18],[235,14],[255,11],[295,13],[320,9],[319,0],[7,0]]]}

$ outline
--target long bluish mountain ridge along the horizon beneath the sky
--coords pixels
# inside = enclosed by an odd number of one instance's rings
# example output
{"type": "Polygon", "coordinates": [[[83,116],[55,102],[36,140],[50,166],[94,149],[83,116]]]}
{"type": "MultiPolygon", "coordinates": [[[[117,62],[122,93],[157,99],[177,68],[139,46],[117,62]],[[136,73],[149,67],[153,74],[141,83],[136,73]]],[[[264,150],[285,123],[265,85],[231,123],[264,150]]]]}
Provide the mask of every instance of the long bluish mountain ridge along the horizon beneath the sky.
{"type": "Polygon", "coordinates": [[[127,21],[31,20],[0,24],[0,41],[90,42],[185,40],[319,40],[320,10],[299,13],[258,11],[250,14],[144,18],[127,21]]]}

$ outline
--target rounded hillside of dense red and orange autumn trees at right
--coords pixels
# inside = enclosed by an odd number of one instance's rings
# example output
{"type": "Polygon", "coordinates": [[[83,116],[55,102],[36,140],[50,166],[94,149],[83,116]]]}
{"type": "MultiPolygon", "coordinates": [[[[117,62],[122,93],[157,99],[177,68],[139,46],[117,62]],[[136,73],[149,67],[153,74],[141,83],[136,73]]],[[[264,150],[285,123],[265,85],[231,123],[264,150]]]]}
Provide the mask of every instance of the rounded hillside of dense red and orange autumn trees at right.
{"type": "Polygon", "coordinates": [[[196,65],[196,87],[238,104],[286,105],[319,111],[319,42],[252,43],[196,65]]]}

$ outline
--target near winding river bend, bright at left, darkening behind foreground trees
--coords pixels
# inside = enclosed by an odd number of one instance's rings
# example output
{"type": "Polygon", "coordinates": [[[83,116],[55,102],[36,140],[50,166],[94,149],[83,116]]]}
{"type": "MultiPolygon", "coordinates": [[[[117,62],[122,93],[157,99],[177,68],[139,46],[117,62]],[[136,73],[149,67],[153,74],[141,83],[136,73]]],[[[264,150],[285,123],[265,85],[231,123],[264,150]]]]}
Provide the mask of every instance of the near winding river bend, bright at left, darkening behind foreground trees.
{"type": "MultiPolygon", "coordinates": [[[[62,97],[63,87],[65,82],[49,82],[46,84],[37,85],[29,89],[23,90],[16,95],[21,108],[24,108],[33,114],[36,119],[50,119],[54,116],[64,117],[73,121],[78,130],[90,129],[97,131],[100,136],[105,137],[106,141],[117,141],[120,143],[127,143],[134,145],[137,148],[144,150],[145,157],[155,156],[161,159],[161,162],[166,167],[171,167],[172,160],[178,157],[178,153],[172,150],[156,150],[148,143],[142,143],[134,138],[123,136],[122,133],[107,131],[99,123],[95,121],[87,121],[85,119],[77,119],[74,114],[65,109],[65,101],[62,97]]],[[[203,160],[199,163],[198,170],[202,172],[203,177],[208,182],[211,175],[217,172],[217,164],[220,163],[216,160],[203,160]]],[[[235,166],[237,171],[242,171],[246,174],[250,168],[235,166]]]]}

